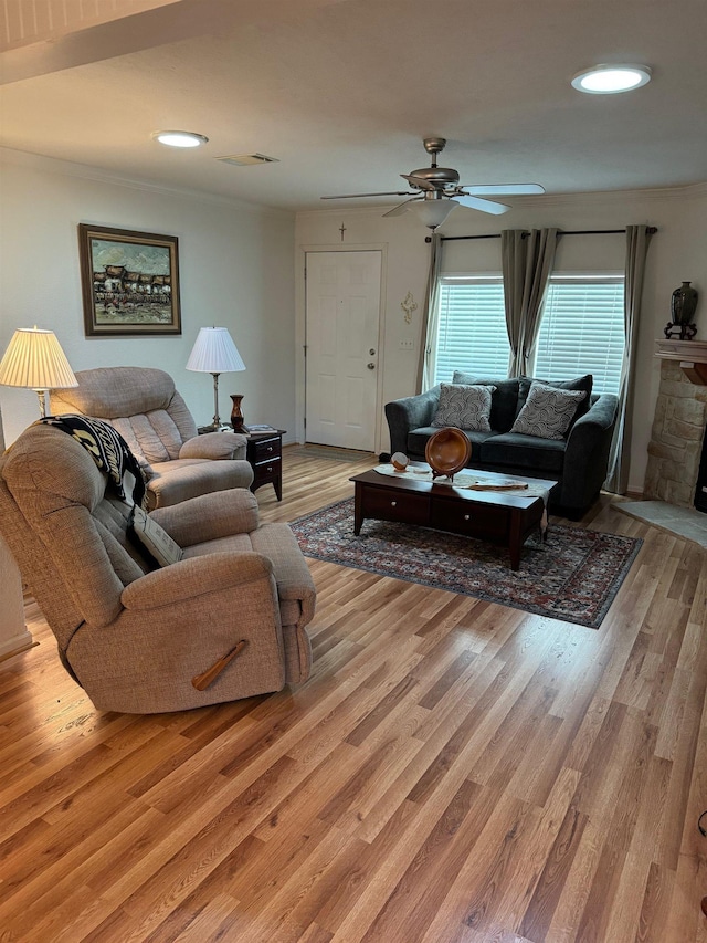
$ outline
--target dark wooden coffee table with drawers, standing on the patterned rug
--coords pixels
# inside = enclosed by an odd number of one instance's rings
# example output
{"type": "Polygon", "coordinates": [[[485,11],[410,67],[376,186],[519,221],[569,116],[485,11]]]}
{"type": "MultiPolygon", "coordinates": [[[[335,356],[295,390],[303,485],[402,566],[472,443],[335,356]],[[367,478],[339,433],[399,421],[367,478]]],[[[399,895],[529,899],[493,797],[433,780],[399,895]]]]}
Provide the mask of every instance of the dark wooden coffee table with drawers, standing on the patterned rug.
{"type": "MultiPolygon", "coordinates": [[[[423,462],[410,468],[426,469],[423,462]]],[[[502,475],[465,469],[464,474],[478,474],[490,481],[517,480],[550,491],[556,481],[536,478],[502,475]]],[[[405,474],[393,478],[367,471],[349,479],[356,488],[354,533],[359,534],[367,517],[377,521],[398,521],[449,531],[466,537],[488,541],[507,547],[510,568],[518,569],[520,549],[528,536],[540,528],[545,501],[537,494],[523,491],[471,491],[450,484],[433,484],[405,474]]]]}

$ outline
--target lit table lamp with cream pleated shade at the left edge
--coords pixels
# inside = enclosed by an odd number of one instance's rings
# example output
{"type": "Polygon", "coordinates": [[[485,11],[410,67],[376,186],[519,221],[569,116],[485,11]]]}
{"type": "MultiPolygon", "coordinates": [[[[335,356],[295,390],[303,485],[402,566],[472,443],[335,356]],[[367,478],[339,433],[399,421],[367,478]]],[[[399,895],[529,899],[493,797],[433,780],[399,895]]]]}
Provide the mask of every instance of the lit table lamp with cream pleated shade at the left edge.
{"type": "Polygon", "coordinates": [[[78,386],[53,331],[19,327],[0,360],[0,384],[33,389],[40,416],[46,415],[46,390],[78,386]]]}

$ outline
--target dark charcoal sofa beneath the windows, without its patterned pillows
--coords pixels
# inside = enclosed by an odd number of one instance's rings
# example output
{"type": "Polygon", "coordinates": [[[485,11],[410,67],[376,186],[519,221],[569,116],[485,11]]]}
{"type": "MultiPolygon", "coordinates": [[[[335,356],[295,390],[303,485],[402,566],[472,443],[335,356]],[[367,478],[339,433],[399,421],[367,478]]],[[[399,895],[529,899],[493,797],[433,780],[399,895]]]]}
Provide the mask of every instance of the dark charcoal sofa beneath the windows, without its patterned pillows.
{"type": "MultiPolygon", "coordinates": [[[[568,389],[591,389],[591,377],[578,381],[549,383],[568,389]],[[582,383],[583,381],[583,383],[582,383]]],[[[525,404],[531,377],[495,380],[456,370],[452,383],[493,384],[490,432],[464,430],[472,441],[468,468],[557,481],[550,495],[553,513],[577,518],[594,502],[606,478],[609,450],[616,421],[618,398],[612,394],[590,394],[584,410],[563,439],[540,439],[510,432],[525,404]]],[[[440,385],[419,396],[386,404],[391,452],[424,461],[430,436],[439,431],[432,420],[440,401],[440,385]]]]}

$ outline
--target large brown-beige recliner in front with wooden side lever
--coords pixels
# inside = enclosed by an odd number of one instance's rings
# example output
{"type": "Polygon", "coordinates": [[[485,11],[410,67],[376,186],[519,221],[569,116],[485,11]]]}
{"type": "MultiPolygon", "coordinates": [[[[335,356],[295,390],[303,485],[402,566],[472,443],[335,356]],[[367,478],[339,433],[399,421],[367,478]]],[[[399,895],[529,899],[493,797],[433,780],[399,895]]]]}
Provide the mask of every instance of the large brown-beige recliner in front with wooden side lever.
{"type": "Polygon", "coordinates": [[[178,711],[307,678],[315,587],[286,524],[258,526],[245,489],[157,510],[183,551],[159,568],[130,510],[56,427],[31,426],[0,458],[0,534],[96,708],[178,711]]]}

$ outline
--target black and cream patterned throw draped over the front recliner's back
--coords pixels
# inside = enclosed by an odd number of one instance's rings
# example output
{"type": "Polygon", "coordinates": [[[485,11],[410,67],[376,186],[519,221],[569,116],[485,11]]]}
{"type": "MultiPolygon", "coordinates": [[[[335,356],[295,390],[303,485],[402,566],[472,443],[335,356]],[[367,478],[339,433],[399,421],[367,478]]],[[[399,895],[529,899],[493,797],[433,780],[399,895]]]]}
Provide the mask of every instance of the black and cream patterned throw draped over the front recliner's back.
{"type": "Polygon", "coordinates": [[[137,459],[123,436],[109,422],[89,416],[66,413],[38,419],[38,423],[55,426],[80,442],[102,472],[116,488],[122,501],[133,501],[147,510],[145,478],[137,459]],[[134,479],[134,483],[126,475],[134,479]],[[130,488],[131,484],[131,488],[130,488]],[[130,497],[127,492],[130,491],[130,497]]]}

